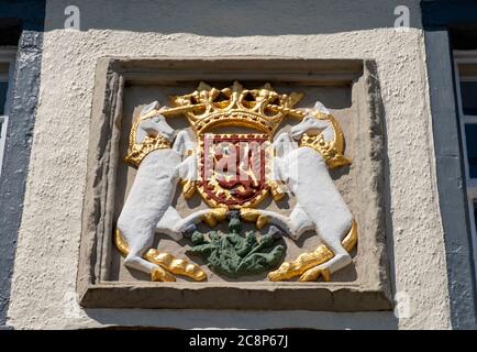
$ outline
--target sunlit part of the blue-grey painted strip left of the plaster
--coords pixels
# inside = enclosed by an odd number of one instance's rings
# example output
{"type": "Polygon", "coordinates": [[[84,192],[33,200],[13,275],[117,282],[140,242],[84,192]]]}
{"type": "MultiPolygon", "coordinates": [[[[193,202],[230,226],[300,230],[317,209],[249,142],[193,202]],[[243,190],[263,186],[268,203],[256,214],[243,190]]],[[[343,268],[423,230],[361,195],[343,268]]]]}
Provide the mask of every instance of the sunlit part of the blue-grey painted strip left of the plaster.
{"type": "Polygon", "coordinates": [[[43,34],[24,31],[16,57],[0,179],[0,326],[5,323],[40,89],[43,34]]]}

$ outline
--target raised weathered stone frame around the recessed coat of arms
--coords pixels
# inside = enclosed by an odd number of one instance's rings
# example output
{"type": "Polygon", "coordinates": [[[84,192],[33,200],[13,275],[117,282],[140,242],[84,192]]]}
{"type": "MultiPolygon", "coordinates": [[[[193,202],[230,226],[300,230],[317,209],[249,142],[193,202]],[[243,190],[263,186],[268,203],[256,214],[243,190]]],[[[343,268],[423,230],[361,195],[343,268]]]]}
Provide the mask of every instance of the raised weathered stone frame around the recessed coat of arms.
{"type": "MultiPolygon", "coordinates": [[[[82,209],[77,277],[79,302],[85,308],[169,309],[306,309],[323,311],[390,310],[385,227],[384,109],[376,64],[360,59],[276,57],[221,58],[99,58],[96,69],[88,173],[82,209]],[[359,84],[357,79],[359,78],[359,84]],[[124,85],[190,80],[285,80],[336,85],[355,81],[366,127],[373,170],[362,182],[369,191],[370,221],[359,243],[369,275],[353,283],[120,283],[108,282],[111,258],[115,170],[124,85]]],[[[359,249],[359,244],[358,244],[359,249]]]]}

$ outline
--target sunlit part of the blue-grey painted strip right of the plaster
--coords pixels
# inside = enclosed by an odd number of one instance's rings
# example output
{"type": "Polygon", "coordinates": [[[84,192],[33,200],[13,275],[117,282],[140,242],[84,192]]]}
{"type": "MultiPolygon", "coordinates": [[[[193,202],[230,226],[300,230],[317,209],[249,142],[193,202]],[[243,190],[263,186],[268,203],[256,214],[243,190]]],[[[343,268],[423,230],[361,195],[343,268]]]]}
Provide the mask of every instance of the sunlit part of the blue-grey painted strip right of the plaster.
{"type": "Polygon", "coordinates": [[[475,276],[447,31],[426,32],[425,47],[452,326],[475,329],[475,276]]]}

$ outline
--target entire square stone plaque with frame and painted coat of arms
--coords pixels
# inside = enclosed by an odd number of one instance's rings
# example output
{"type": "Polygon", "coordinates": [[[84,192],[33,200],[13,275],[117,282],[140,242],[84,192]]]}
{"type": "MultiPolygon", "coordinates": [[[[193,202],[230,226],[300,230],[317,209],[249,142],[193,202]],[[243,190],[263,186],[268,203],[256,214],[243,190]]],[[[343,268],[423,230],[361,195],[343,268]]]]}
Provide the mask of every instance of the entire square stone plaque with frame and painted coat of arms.
{"type": "Polygon", "coordinates": [[[98,62],[85,307],[391,309],[368,61],[98,62]]]}

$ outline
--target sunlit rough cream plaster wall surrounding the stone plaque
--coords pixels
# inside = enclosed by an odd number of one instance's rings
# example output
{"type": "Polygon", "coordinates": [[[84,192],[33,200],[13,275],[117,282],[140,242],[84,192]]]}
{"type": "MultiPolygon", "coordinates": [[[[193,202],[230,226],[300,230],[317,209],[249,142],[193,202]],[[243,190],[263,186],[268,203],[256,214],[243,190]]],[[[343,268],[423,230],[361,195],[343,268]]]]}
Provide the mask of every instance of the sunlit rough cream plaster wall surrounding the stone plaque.
{"type": "MultiPolygon", "coordinates": [[[[48,21],[64,19],[64,7],[58,2],[47,6],[47,25],[54,25],[48,21]]],[[[82,16],[85,9],[91,9],[93,15],[93,2],[81,2],[82,16]]],[[[141,11],[147,13],[144,8],[141,11]]],[[[18,329],[114,323],[179,328],[450,328],[443,230],[431,163],[434,156],[429,138],[423,33],[417,29],[314,33],[325,34],[215,36],[91,29],[47,31],[9,324],[18,329]],[[391,271],[395,289],[410,297],[411,317],[396,320],[392,312],[80,309],[75,283],[95,65],[98,57],[107,55],[376,59],[386,111],[391,271]]]]}

